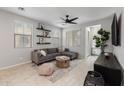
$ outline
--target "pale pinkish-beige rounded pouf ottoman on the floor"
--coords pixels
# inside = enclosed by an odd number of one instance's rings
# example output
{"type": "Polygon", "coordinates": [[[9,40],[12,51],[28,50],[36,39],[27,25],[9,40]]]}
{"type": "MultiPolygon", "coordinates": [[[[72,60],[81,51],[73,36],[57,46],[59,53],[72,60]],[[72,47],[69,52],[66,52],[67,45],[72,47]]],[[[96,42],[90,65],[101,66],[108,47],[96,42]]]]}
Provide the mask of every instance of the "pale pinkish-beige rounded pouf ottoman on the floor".
{"type": "Polygon", "coordinates": [[[55,70],[54,67],[53,63],[44,63],[38,67],[38,73],[42,76],[50,76],[55,70]]]}

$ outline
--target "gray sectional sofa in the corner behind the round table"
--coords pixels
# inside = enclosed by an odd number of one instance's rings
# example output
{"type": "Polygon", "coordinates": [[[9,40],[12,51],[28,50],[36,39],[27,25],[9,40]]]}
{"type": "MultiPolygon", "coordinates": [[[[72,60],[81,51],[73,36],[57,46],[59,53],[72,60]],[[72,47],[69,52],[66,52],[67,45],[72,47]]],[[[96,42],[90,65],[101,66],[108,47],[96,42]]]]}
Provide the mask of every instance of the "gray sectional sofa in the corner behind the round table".
{"type": "Polygon", "coordinates": [[[55,60],[56,56],[61,56],[61,55],[69,56],[71,60],[78,58],[78,53],[76,52],[72,52],[69,50],[59,52],[58,48],[47,48],[47,49],[37,49],[37,50],[32,51],[31,59],[32,59],[32,62],[39,65],[45,62],[50,62],[52,60],[55,60]],[[44,50],[47,53],[47,55],[43,56],[40,52],[41,50],[44,50]]]}

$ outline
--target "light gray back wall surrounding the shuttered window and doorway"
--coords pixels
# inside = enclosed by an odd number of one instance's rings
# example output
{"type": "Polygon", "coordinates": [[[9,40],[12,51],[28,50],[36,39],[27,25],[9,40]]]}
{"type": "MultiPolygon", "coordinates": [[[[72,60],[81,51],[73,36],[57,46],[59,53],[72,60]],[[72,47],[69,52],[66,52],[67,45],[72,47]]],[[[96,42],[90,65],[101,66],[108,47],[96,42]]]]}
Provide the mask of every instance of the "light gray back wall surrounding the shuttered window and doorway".
{"type": "MultiPolygon", "coordinates": [[[[72,51],[75,51],[75,52],[78,52],[79,53],[79,57],[80,58],[84,58],[85,57],[85,31],[86,31],[86,27],[88,26],[93,26],[93,25],[99,25],[101,24],[101,27],[104,28],[105,30],[107,31],[111,31],[111,23],[112,23],[112,16],[109,16],[109,17],[106,17],[106,18],[103,18],[103,19],[100,19],[100,20],[96,20],[96,21],[91,21],[91,22],[87,22],[87,23],[84,23],[84,24],[81,24],[81,25],[75,25],[75,26],[72,26],[72,27],[68,27],[68,28],[65,28],[63,29],[63,47],[67,47],[66,46],[66,36],[65,36],[65,33],[67,31],[75,31],[75,30],[81,30],[81,39],[80,39],[80,42],[81,42],[81,46],[80,47],[71,47],[70,49],[72,51]]],[[[111,38],[110,40],[108,41],[108,44],[109,46],[106,48],[105,51],[107,52],[112,52],[113,48],[112,48],[112,45],[111,45],[111,38]]]]}

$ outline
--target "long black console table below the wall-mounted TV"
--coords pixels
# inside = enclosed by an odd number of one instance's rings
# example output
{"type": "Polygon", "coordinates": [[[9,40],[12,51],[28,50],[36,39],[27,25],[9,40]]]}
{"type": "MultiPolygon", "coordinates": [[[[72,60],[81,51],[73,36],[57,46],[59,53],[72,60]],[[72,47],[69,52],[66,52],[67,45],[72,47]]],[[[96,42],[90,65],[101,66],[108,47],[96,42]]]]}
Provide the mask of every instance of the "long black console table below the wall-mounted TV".
{"type": "Polygon", "coordinates": [[[101,54],[94,63],[94,71],[102,74],[105,85],[119,86],[122,82],[122,67],[113,54],[106,57],[101,54]]]}

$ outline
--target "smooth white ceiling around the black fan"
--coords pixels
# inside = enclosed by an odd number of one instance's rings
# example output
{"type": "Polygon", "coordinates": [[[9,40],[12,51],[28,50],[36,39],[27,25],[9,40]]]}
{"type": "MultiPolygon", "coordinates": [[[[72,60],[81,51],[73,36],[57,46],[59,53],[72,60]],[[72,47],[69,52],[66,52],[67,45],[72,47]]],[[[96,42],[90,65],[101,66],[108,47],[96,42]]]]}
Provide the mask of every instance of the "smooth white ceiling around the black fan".
{"type": "Polygon", "coordinates": [[[69,14],[70,17],[79,17],[78,24],[101,19],[114,13],[118,8],[103,8],[103,7],[24,7],[25,11],[18,10],[18,7],[1,7],[18,15],[26,16],[41,22],[48,23],[56,27],[67,27],[69,25],[62,25],[63,22],[60,17],[65,17],[69,14]]]}

